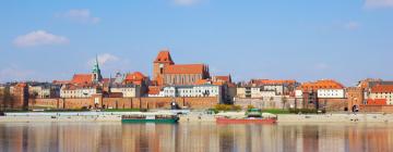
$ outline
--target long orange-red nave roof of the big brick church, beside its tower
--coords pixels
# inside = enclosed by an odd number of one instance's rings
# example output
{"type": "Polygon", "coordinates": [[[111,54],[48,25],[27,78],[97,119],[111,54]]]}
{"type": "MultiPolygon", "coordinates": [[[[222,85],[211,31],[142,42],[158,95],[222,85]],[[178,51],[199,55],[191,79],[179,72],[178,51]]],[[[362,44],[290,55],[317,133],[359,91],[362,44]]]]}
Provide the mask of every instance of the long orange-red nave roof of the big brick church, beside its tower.
{"type": "Polygon", "coordinates": [[[164,68],[165,74],[203,74],[204,71],[204,64],[177,64],[164,68]]]}

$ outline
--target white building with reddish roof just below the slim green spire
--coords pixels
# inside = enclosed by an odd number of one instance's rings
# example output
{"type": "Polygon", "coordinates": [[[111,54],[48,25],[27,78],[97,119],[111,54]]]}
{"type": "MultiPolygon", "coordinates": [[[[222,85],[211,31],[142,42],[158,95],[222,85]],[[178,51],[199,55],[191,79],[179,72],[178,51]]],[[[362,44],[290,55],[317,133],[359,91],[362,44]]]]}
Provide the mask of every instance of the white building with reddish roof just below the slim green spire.
{"type": "Polygon", "coordinates": [[[60,90],[60,98],[91,98],[93,94],[102,93],[98,86],[64,85],[60,90]]]}

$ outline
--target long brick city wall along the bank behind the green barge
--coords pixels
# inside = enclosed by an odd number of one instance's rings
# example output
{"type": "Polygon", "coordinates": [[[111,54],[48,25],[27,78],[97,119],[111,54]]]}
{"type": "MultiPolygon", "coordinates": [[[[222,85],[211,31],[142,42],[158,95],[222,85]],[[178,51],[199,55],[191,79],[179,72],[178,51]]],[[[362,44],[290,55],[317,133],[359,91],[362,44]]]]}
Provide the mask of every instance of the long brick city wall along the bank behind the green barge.
{"type": "MultiPolygon", "coordinates": [[[[169,109],[176,101],[180,107],[210,109],[218,103],[218,98],[99,98],[98,107],[111,109],[169,109]]],[[[94,107],[94,98],[85,99],[31,99],[28,106],[49,109],[82,109],[94,107]]]]}

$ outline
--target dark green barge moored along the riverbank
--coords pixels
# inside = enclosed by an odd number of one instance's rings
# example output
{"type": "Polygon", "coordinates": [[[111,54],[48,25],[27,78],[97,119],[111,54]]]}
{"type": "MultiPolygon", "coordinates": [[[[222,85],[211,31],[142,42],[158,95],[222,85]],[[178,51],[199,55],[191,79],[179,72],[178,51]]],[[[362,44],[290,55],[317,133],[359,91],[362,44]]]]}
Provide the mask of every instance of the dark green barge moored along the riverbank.
{"type": "Polygon", "coordinates": [[[163,124],[176,124],[179,117],[177,115],[164,115],[164,114],[152,114],[152,115],[122,115],[121,123],[163,123],[163,124]]]}

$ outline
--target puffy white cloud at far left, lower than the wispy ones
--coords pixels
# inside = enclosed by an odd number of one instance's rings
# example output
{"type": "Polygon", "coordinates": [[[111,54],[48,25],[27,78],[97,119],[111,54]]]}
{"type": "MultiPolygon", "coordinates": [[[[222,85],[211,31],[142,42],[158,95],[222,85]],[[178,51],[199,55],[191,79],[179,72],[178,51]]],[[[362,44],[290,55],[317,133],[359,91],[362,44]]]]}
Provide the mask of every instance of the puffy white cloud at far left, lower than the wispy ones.
{"type": "Polygon", "coordinates": [[[56,36],[45,30],[35,30],[14,39],[13,45],[16,47],[36,47],[46,45],[64,45],[70,40],[63,36],[56,36]]]}

